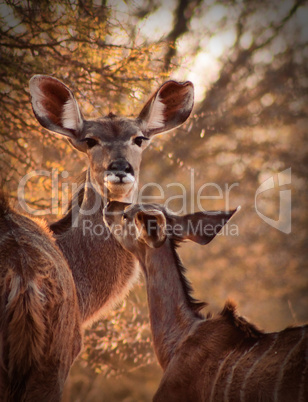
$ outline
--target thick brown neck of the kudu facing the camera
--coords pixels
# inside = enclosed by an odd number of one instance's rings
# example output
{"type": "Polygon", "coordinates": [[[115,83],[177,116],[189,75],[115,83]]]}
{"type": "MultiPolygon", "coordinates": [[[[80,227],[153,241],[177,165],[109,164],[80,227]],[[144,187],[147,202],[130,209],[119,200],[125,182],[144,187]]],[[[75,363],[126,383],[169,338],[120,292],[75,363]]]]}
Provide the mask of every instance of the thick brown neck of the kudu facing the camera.
{"type": "Polygon", "coordinates": [[[136,259],[122,248],[103,221],[102,198],[93,186],[73,202],[70,212],[51,225],[72,270],[81,317],[92,322],[126,296],[138,277],[136,259]],[[91,211],[91,212],[90,212],[91,211]]]}

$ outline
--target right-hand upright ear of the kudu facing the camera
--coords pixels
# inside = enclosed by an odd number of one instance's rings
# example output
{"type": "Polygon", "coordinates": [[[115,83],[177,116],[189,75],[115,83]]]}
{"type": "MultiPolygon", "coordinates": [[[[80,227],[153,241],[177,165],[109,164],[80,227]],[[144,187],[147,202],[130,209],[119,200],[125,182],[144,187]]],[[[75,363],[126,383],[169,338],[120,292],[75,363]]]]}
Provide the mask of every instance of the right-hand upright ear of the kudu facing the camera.
{"type": "Polygon", "coordinates": [[[183,124],[193,106],[194,86],[191,82],[167,81],[151,96],[137,120],[144,134],[151,137],[183,124]]]}

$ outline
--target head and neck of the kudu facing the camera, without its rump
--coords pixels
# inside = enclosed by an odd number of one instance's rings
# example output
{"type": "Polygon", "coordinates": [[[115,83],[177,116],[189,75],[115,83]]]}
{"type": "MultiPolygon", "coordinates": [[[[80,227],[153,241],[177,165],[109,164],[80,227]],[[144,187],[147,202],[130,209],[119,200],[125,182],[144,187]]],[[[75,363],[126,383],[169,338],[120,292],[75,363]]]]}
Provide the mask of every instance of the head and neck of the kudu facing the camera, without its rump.
{"type": "Polygon", "coordinates": [[[141,154],[154,135],[186,121],[193,107],[193,85],[166,82],[136,119],[109,114],[85,120],[71,90],[53,77],[34,76],[30,92],[38,121],[89,158],[83,190],[67,215],[51,225],[72,270],[82,322],[88,324],[119,302],[139,275],[135,257],[104,226],[104,198],[136,199],[141,154]],[[95,227],[100,227],[100,235],[91,230],[95,227]]]}

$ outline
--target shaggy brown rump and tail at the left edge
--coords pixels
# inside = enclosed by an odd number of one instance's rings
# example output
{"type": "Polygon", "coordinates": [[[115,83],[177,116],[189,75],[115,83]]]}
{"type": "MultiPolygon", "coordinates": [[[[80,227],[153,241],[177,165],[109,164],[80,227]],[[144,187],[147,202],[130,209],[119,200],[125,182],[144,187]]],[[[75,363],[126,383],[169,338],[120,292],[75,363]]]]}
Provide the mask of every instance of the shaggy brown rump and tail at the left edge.
{"type": "Polygon", "coordinates": [[[51,232],[0,194],[0,400],[60,401],[82,344],[71,270],[51,232]]]}

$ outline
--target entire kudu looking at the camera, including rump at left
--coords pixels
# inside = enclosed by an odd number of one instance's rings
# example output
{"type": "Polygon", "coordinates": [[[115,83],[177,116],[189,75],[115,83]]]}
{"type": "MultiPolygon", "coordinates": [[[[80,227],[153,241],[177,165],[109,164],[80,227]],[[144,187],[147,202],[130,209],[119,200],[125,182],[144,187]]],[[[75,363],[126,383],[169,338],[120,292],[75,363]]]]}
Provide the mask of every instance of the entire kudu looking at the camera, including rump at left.
{"type": "Polygon", "coordinates": [[[8,400],[58,401],[82,327],[138,276],[137,260],[104,226],[103,195],[136,198],[142,151],[188,118],[193,86],[165,83],[136,119],[85,120],[70,89],[52,77],[34,76],[30,92],[38,121],[87,153],[90,167],[67,215],[52,225],[54,237],[1,197],[0,391],[8,400]],[[89,224],[103,233],[88,233],[89,224]]]}

